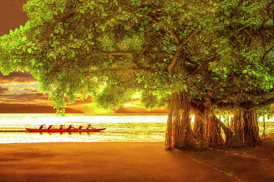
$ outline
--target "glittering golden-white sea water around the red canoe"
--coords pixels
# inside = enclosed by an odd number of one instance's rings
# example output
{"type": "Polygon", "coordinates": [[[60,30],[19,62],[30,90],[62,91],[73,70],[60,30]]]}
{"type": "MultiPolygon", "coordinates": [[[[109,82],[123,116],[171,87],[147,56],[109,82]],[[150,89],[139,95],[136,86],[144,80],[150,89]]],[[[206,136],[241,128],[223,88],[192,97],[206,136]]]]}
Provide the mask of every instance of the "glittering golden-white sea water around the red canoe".
{"type": "MultiPolygon", "coordinates": [[[[193,125],[194,117],[192,117],[193,125]]],[[[223,118],[221,118],[223,120],[223,118]]],[[[262,121],[262,118],[260,118],[262,121]]],[[[164,142],[167,115],[164,114],[0,114],[0,143],[36,142],[164,142]],[[101,132],[29,132],[41,124],[107,128],[101,132]]],[[[265,133],[274,133],[274,119],[265,120],[265,133]]],[[[263,123],[259,122],[260,134],[263,123]]]]}

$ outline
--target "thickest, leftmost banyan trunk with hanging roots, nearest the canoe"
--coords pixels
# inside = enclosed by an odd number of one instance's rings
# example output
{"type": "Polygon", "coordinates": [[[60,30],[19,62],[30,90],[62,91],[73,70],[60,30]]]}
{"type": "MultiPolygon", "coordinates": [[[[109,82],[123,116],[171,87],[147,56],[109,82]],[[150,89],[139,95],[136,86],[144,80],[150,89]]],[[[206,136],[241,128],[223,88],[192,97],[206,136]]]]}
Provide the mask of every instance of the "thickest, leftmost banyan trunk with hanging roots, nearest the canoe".
{"type": "Polygon", "coordinates": [[[169,99],[165,150],[172,147],[193,147],[194,137],[190,124],[188,93],[172,93],[169,99]],[[172,133],[170,132],[172,131],[172,133]],[[171,136],[170,136],[171,133],[171,136]]]}

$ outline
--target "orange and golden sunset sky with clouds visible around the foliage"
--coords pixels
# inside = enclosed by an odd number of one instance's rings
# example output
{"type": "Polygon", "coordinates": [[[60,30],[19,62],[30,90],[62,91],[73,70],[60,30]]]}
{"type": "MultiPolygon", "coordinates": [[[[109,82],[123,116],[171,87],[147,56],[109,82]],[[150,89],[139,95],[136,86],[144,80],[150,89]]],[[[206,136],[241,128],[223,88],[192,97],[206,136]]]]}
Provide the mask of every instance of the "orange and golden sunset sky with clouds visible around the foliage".
{"type": "MultiPolygon", "coordinates": [[[[9,34],[9,30],[25,25],[28,17],[23,12],[23,4],[27,0],[2,0],[0,10],[0,36],[9,34]]],[[[0,73],[0,103],[22,103],[51,106],[49,93],[42,93],[37,86],[37,80],[28,72],[12,72],[8,76],[0,73]]],[[[146,111],[139,104],[139,95],[132,98],[132,103],[120,107],[118,111],[100,110],[91,105],[91,97],[83,101],[77,99],[75,103],[67,105],[70,108],[82,110],[84,113],[167,113],[165,110],[146,111]]],[[[1,111],[0,111],[1,113],[1,111]]]]}

